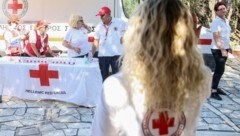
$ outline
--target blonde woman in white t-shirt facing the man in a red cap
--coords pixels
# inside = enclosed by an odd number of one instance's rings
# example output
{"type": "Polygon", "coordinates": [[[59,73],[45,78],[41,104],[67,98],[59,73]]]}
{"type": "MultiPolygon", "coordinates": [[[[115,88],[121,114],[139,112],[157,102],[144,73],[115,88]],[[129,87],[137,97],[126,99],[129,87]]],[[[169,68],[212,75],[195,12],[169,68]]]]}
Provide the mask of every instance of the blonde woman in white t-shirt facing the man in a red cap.
{"type": "Polygon", "coordinates": [[[91,52],[91,44],[88,42],[88,33],[91,28],[87,26],[83,17],[80,15],[71,15],[69,19],[71,27],[63,40],[63,46],[68,48],[68,57],[83,58],[91,52]]]}

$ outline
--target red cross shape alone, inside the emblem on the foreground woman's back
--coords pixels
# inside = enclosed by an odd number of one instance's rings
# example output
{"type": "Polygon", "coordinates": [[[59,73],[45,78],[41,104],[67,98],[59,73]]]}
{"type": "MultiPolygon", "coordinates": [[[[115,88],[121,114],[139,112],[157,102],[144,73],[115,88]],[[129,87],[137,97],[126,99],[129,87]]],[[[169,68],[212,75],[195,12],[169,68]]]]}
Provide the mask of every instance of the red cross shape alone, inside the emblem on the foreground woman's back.
{"type": "Polygon", "coordinates": [[[152,122],[154,129],[159,129],[160,135],[166,135],[168,134],[168,127],[174,126],[174,118],[168,117],[168,112],[160,112],[159,118],[154,119],[152,122]]]}

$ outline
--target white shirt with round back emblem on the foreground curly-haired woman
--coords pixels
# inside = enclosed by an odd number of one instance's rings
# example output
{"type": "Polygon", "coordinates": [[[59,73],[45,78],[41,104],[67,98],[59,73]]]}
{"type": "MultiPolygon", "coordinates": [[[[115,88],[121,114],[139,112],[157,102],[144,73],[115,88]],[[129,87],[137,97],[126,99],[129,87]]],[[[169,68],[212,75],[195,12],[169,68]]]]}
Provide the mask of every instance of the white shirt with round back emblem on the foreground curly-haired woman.
{"type": "Polygon", "coordinates": [[[94,114],[93,136],[194,136],[203,101],[210,95],[211,73],[203,87],[200,101],[193,106],[186,103],[180,121],[176,121],[166,108],[144,112],[144,95],[126,88],[121,74],[110,76],[103,84],[103,92],[94,114]],[[164,117],[167,117],[164,118],[164,117]],[[177,134],[179,133],[179,134],[177,134]]]}

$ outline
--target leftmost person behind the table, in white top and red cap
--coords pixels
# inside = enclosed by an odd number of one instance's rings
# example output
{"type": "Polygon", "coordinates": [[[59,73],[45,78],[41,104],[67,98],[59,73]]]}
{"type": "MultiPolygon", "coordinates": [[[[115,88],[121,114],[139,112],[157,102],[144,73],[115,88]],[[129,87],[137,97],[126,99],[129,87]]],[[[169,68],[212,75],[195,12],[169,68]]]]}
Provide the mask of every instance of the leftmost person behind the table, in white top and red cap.
{"type": "Polygon", "coordinates": [[[24,35],[18,29],[19,19],[17,15],[11,15],[8,20],[6,31],[3,37],[6,43],[6,54],[8,56],[20,56],[22,54],[22,40],[24,35]]]}

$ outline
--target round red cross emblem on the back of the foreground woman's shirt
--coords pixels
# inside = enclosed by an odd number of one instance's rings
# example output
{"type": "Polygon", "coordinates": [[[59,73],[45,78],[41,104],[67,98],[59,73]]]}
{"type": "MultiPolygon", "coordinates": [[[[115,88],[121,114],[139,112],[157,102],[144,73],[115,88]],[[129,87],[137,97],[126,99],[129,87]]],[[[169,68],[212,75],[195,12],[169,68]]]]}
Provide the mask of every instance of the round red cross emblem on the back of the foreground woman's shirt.
{"type": "Polygon", "coordinates": [[[168,108],[149,109],[142,121],[145,136],[180,136],[186,125],[184,113],[179,119],[168,108]]]}

